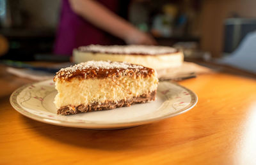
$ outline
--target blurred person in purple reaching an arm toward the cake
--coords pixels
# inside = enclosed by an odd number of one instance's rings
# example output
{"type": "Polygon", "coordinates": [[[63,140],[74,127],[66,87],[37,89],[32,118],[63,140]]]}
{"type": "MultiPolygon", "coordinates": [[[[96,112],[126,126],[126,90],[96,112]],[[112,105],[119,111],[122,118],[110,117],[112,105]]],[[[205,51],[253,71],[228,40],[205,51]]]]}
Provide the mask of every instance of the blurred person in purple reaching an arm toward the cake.
{"type": "Polygon", "coordinates": [[[54,53],[72,55],[80,46],[119,44],[109,34],[126,44],[156,45],[154,38],[117,13],[118,0],[63,0],[54,53]]]}

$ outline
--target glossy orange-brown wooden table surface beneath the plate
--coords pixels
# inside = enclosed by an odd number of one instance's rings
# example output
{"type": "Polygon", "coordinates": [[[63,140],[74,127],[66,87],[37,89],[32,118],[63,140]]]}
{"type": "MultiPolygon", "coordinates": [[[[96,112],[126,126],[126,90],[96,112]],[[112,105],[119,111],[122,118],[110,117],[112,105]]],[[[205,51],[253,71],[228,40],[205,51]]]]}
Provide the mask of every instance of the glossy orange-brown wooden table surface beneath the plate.
{"type": "Polygon", "coordinates": [[[181,85],[198,104],[177,117],[131,129],[93,131],[36,122],[10,94],[31,80],[0,66],[0,164],[256,164],[256,80],[211,73],[181,85]]]}

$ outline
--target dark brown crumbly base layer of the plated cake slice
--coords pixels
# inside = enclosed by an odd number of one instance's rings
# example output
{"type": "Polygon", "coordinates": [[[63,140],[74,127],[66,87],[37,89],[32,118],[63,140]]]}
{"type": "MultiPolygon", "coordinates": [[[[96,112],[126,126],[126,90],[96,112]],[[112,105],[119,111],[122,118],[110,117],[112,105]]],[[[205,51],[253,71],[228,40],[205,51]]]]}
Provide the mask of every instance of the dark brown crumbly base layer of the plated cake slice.
{"type": "Polygon", "coordinates": [[[123,106],[131,106],[131,104],[136,103],[146,103],[148,101],[154,101],[156,99],[156,90],[150,92],[149,94],[142,94],[138,97],[132,97],[127,100],[120,100],[117,103],[115,101],[107,101],[105,103],[93,103],[93,104],[80,104],[79,106],[63,106],[58,111],[58,115],[74,115],[81,112],[89,111],[100,111],[100,110],[111,110],[123,106]]]}

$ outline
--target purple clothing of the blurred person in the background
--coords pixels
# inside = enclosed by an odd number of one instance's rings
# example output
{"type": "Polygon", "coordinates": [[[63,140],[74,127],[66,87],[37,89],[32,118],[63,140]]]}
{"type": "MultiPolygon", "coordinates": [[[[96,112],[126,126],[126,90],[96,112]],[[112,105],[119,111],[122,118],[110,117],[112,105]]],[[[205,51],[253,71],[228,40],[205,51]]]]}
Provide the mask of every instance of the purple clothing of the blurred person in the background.
{"type": "MultiPolygon", "coordinates": [[[[118,0],[102,0],[99,3],[114,13],[117,13],[118,0]]],[[[72,55],[74,48],[90,44],[110,45],[113,43],[111,43],[107,32],[100,30],[74,13],[70,8],[68,0],[63,0],[60,23],[54,45],[54,54],[72,55]]]]}

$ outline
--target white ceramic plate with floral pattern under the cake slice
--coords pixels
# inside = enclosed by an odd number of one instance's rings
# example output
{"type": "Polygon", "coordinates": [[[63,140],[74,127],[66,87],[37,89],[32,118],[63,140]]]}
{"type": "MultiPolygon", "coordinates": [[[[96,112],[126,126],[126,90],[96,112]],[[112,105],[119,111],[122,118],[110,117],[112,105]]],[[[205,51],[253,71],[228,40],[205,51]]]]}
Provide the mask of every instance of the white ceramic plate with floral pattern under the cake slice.
{"type": "Polygon", "coordinates": [[[194,92],[170,82],[159,82],[157,100],[133,104],[130,107],[114,110],[93,111],[76,115],[56,115],[53,103],[57,91],[54,82],[24,85],[15,90],[10,103],[22,115],[58,126],[81,127],[87,129],[120,129],[140,126],[163,118],[180,115],[190,110],[197,103],[194,92]]]}

